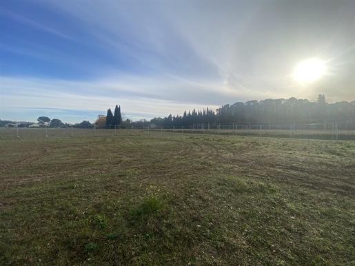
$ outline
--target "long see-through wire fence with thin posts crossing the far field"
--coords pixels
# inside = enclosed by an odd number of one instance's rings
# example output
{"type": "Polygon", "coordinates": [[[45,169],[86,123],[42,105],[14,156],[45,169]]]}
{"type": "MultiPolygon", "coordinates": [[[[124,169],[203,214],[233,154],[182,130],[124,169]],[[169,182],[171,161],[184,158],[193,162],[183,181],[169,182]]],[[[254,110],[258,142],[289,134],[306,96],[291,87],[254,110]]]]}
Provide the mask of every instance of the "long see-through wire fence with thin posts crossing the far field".
{"type": "Polygon", "coordinates": [[[123,133],[141,132],[166,134],[209,134],[229,136],[278,137],[291,139],[327,139],[355,141],[355,122],[345,123],[259,123],[259,124],[194,124],[190,127],[125,127],[116,129],[92,128],[27,128],[0,127],[0,139],[40,138],[54,136],[119,136],[123,133]]]}

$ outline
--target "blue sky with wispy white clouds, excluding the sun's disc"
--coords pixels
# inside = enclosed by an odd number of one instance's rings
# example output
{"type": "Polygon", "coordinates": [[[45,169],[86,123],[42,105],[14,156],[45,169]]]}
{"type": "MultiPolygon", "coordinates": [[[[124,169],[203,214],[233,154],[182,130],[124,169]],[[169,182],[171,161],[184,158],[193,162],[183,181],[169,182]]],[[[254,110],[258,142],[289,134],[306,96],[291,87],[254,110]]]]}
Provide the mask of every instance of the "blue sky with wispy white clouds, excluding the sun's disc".
{"type": "Polygon", "coordinates": [[[0,119],[355,100],[355,1],[0,1],[0,119]],[[323,62],[315,81],[296,66],[323,62]]]}

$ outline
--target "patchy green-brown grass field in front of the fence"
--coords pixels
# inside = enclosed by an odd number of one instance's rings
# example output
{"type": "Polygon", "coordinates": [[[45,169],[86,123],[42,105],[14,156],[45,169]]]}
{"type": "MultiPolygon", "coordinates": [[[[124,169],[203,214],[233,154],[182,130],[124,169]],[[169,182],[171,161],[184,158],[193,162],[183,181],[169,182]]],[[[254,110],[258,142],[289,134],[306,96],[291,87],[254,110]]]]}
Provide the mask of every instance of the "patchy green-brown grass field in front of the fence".
{"type": "Polygon", "coordinates": [[[36,130],[0,134],[0,265],[355,265],[354,141],[36,130]]]}

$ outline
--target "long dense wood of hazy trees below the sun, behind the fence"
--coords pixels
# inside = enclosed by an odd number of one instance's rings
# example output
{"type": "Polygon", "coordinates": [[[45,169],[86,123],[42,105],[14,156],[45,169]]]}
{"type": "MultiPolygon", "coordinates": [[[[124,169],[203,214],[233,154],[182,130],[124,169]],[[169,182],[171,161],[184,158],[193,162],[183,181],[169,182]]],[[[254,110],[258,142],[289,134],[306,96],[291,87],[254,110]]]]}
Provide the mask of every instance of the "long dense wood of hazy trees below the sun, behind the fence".
{"type": "Polygon", "coordinates": [[[327,103],[324,94],[319,94],[317,102],[307,99],[265,99],[263,101],[236,102],[222,105],[216,112],[208,108],[203,110],[185,110],[183,116],[163,119],[154,118],[150,123],[157,126],[186,126],[206,123],[268,123],[269,121],[301,121],[316,119],[351,119],[354,118],[355,101],[348,103],[327,103]]]}

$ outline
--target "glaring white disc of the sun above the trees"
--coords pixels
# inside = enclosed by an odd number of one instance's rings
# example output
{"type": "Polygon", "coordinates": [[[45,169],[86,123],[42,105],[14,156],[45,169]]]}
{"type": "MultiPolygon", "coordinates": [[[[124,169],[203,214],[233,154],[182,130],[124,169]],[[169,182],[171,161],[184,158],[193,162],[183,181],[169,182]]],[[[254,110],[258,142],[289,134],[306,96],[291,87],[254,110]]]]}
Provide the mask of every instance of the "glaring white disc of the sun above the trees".
{"type": "Polygon", "coordinates": [[[294,69],[294,78],[300,82],[311,82],[323,76],[324,62],[318,59],[309,59],[299,63],[294,69]]]}

